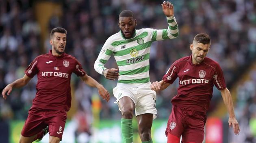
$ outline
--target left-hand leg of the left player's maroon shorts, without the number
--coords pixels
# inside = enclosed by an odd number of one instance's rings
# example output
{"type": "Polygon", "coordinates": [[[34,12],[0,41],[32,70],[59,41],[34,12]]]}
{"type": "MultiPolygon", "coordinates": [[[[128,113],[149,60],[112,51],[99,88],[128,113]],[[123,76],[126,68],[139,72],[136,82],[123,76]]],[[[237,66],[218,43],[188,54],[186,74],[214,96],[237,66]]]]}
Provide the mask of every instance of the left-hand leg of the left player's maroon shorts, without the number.
{"type": "Polygon", "coordinates": [[[31,137],[36,135],[47,126],[44,123],[40,113],[42,112],[36,112],[36,114],[28,113],[28,118],[26,119],[21,131],[21,135],[23,137],[31,137]]]}

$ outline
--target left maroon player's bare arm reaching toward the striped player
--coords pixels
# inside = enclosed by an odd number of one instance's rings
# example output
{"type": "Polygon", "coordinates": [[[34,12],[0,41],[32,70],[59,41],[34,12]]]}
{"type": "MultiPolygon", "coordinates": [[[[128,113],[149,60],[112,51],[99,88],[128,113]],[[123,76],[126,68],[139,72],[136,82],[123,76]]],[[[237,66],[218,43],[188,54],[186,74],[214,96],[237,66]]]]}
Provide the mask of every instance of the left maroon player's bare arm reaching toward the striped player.
{"type": "Polygon", "coordinates": [[[106,90],[101,84],[99,84],[96,80],[94,80],[91,76],[82,76],[81,79],[89,86],[98,88],[98,92],[102,99],[109,101],[110,94],[108,90],[106,90]]]}

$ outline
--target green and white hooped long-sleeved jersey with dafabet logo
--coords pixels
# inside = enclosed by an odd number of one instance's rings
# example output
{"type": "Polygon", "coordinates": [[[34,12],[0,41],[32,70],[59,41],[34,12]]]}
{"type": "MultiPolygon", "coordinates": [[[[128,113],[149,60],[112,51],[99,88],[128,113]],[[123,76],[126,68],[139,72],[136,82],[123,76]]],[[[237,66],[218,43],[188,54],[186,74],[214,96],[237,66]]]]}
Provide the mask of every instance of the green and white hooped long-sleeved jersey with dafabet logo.
{"type": "Polygon", "coordinates": [[[139,29],[133,38],[126,39],[118,32],[110,36],[94,63],[94,69],[102,74],[105,63],[113,54],[119,67],[117,86],[137,87],[150,83],[149,57],[152,42],[178,37],[178,25],[174,16],[167,17],[168,29],[139,29]]]}

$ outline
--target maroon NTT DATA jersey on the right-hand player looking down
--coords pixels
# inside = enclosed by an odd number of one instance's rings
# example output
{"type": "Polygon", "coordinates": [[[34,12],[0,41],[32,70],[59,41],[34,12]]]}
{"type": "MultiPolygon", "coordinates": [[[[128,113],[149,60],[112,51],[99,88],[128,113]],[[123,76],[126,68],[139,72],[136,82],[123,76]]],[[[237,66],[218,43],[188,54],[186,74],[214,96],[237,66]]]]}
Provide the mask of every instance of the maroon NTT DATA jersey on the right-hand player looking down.
{"type": "Polygon", "coordinates": [[[171,103],[206,114],[213,96],[213,84],[226,88],[221,67],[216,61],[205,58],[199,65],[193,65],[192,55],[178,59],[171,65],[163,80],[172,84],[179,77],[178,95],[171,103]]]}

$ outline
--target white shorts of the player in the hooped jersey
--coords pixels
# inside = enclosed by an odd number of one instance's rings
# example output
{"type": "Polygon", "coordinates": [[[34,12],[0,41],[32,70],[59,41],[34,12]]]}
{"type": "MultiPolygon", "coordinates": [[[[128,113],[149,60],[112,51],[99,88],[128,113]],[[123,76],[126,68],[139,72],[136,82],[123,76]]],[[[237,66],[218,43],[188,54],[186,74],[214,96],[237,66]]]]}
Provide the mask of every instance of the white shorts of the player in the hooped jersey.
{"type": "Polygon", "coordinates": [[[136,88],[117,86],[113,88],[113,94],[117,99],[115,103],[118,103],[122,97],[130,97],[135,104],[135,116],[150,113],[153,114],[153,119],[156,118],[156,92],[149,86],[136,88]]]}

